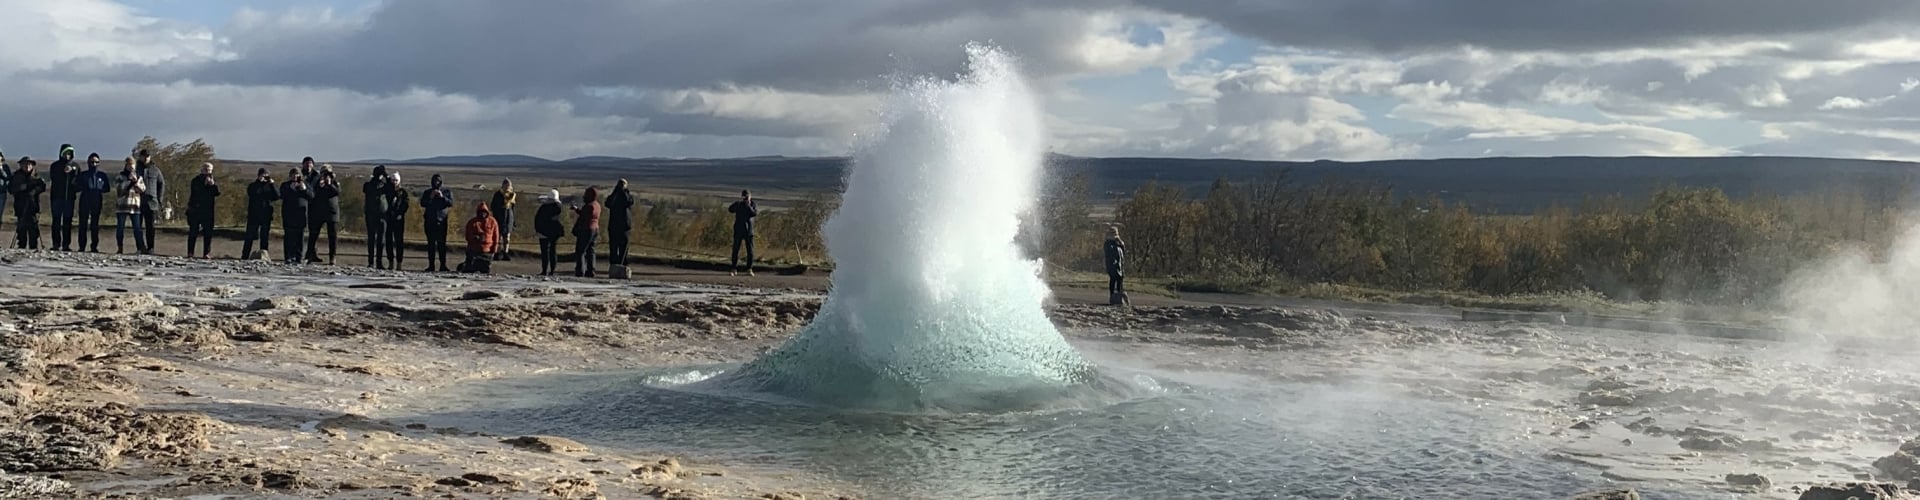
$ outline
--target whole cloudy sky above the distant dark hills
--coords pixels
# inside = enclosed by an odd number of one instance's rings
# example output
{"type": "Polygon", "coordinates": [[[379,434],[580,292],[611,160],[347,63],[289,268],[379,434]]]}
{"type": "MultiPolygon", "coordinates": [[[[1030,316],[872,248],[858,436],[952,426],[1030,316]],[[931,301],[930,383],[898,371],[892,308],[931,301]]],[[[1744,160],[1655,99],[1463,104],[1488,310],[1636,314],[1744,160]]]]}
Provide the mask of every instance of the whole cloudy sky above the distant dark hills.
{"type": "Polygon", "coordinates": [[[0,0],[0,148],[845,154],[1018,54],[1083,156],[1920,160],[1912,0],[0,0]]]}

